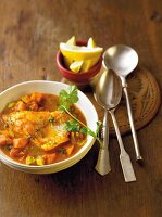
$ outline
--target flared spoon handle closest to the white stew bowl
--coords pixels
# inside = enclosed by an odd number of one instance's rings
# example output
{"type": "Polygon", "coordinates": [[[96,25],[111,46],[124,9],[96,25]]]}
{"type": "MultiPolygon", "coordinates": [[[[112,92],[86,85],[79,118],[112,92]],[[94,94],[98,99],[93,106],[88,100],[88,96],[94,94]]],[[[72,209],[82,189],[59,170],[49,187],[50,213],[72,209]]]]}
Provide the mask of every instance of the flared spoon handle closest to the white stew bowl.
{"type": "Polygon", "coordinates": [[[109,126],[108,126],[108,111],[104,111],[103,127],[103,148],[100,148],[98,161],[95,169],[102,176],[107,175],[110,170],[110,158],[109,158],[109,126]]]}

